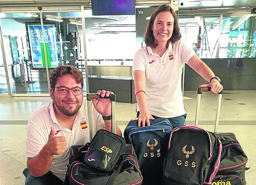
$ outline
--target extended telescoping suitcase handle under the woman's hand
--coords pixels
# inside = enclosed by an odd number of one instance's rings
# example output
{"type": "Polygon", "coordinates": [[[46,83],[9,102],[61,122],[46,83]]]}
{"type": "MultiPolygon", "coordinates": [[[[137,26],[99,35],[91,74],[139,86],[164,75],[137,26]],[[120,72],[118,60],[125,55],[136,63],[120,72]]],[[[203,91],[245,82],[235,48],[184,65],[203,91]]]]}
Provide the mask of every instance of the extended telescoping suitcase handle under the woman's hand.
{"type": "MultiPolygon", "coordinates": [[[[196,104],[196,112],[195,112],[195,126],[198,126],[198,118],[199,118],[200,103],[201,103],[201,94],[202,94],[202,92],[209,92],[209,91],[211,91],[210,87],[202,87],[202,88],[198,88],[197,89],[197,104],[196,104]]],[[[217,113],[216,113],[216,119],[215,119],[214,132],[218,131],[219,118],[220,118],[220,112],[221,112],[222,92],[223,92],[223,89],[218,94],[217,113]]]]}

